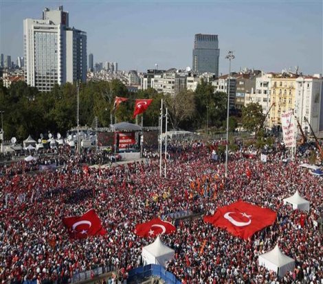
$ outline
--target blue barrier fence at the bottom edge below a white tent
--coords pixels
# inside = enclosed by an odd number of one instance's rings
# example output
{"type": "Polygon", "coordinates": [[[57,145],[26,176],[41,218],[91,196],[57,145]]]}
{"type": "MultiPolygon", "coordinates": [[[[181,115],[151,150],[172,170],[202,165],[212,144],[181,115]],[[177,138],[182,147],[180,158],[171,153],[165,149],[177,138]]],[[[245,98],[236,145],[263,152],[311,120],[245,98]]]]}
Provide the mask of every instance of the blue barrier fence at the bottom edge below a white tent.
{"type": "Polygon", "coordinates": [[[127,283],[142,283],[142,279],[150,276],[158,276],[167,284],[181,284],[181,281],[177,280],[174,274],[157,264],[149,264],[130,270],[127,283]]]}

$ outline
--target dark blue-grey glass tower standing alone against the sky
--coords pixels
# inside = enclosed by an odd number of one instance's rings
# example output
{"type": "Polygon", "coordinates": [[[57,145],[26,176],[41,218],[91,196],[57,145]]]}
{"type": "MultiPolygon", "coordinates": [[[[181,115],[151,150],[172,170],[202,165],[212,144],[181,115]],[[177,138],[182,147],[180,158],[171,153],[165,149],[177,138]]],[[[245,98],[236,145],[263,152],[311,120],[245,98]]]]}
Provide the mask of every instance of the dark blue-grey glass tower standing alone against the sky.
{"type": "Polygon", "coordinates": [[[214,73],[219,76],[219,42],[216,34],[195,34],[193,72],[214,73]]]}

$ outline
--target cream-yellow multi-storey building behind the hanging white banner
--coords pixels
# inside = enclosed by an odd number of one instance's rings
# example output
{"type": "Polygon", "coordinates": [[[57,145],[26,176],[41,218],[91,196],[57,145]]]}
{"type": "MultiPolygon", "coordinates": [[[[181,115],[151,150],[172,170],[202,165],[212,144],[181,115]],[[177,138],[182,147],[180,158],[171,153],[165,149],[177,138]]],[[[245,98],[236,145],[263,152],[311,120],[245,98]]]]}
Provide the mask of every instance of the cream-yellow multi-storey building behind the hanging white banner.
{"type": "Polygon", "coordinates": [[[271,78],[271,104],[269,127],[281,126],[280,117],[282,113],[295,109],[295,87],[298,75],[293,73],[281,73],[271,78]]]}

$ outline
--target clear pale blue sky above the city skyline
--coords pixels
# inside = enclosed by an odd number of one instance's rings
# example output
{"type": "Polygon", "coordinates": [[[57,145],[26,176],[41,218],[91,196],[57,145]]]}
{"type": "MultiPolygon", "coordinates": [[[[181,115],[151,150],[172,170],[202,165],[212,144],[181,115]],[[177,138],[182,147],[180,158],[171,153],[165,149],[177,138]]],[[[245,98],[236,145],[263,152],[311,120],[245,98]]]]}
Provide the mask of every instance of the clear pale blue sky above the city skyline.
{"type": "Polygon", "coordinates": [[[194,34],[219,36],[219,72],[234,51],[232,71],[282,69],[323,73],[323,1],[15,1],[0,0],[0,52],[23,56],[23,19],[45,7],[69,12],[69,26],[87,32],[94,62],[119,70],[192,67],[194,34]]]}

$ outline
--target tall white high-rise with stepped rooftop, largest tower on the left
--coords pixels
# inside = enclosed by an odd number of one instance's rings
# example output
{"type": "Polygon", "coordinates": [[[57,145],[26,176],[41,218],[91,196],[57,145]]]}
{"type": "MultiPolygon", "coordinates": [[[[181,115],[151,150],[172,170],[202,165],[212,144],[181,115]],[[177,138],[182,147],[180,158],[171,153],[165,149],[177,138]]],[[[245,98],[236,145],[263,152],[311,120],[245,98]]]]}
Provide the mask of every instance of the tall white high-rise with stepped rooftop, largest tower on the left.
{"type": "Polygon", "coordinates": [[[39,91],[50,91],[54,84],[85,82],[87,73],[87,34],[69,28],[69,14],[43,11],[43,19],[23,21],[25,82],[39,91]]]}

